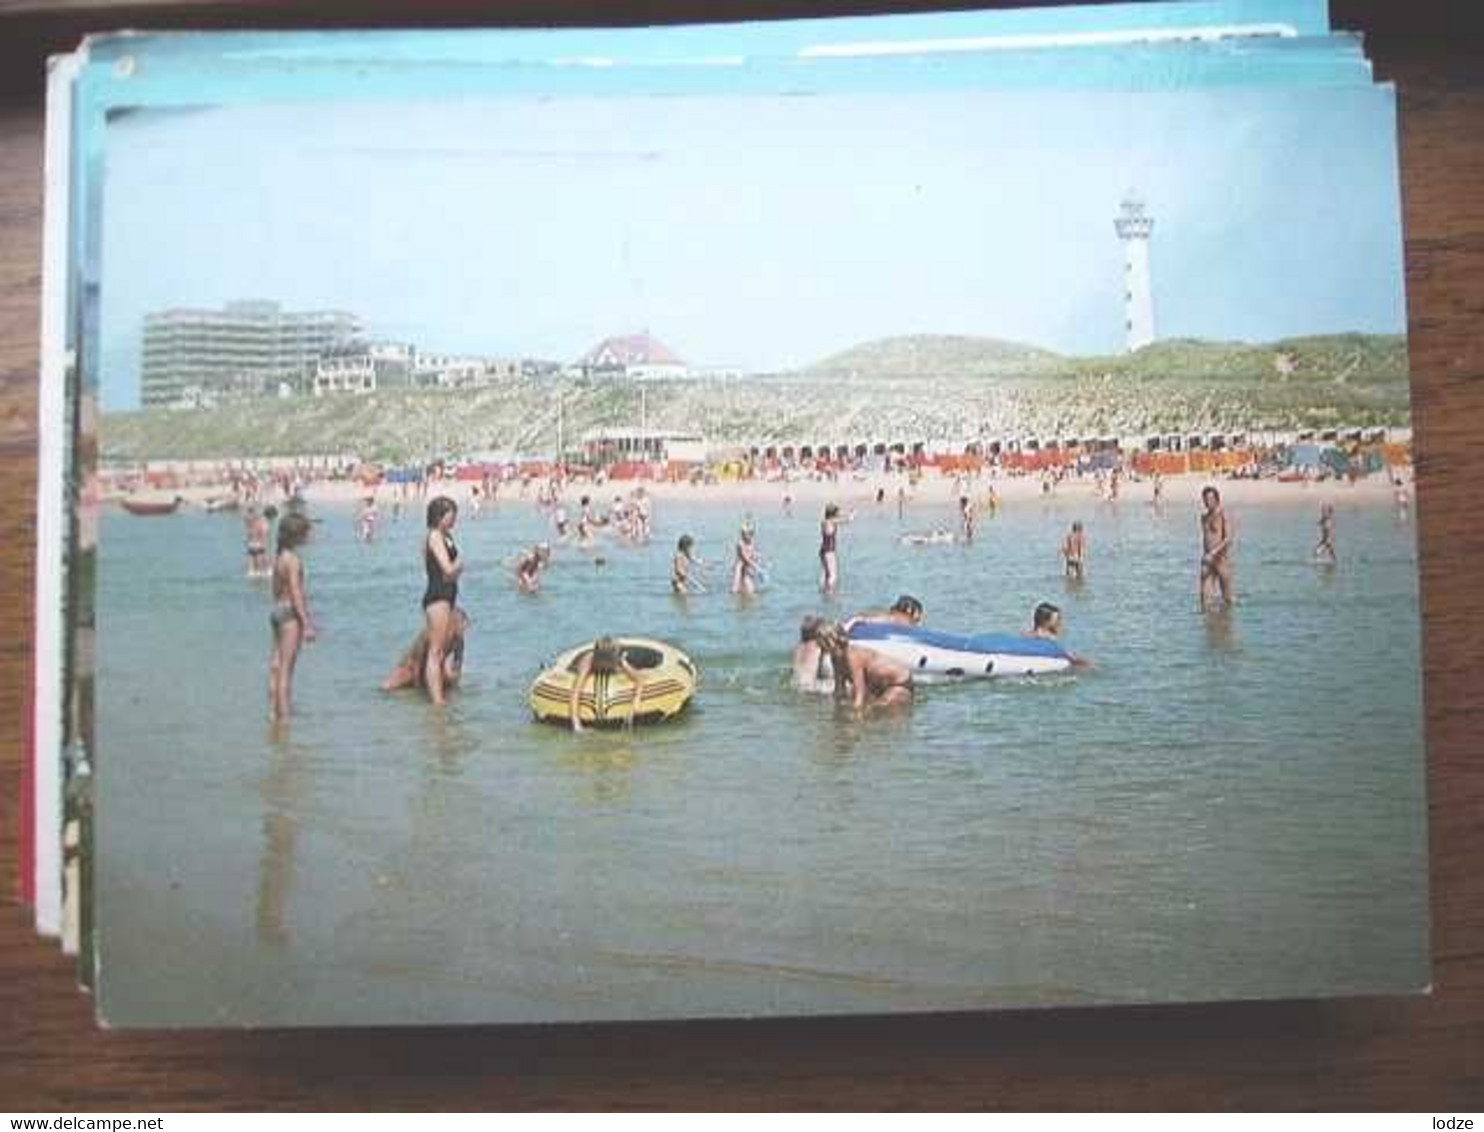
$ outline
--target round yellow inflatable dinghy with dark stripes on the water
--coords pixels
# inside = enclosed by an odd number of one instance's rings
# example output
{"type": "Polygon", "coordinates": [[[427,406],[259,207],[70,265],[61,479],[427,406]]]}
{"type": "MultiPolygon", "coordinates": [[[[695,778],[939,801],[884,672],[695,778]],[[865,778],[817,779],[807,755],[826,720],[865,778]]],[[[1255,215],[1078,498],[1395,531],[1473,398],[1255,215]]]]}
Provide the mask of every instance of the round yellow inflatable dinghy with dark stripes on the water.
{"type": "MultiPolygon", "coordinates": [[[[696,665],[689,656],[663,641],[647,636],[619,636],[619,651],[629,668],[640,674],[635,702],[634,681],[626,672],[600,672],[583,681],[577,717],[585,725],[616,727],[660,723],[680,715],[696,694],[696,665]]],[[[530,705],[542,723],[571,723],[571,684],[577,663],[592,651],[592,642],[568,648],[531,684],[530,705]]]]}

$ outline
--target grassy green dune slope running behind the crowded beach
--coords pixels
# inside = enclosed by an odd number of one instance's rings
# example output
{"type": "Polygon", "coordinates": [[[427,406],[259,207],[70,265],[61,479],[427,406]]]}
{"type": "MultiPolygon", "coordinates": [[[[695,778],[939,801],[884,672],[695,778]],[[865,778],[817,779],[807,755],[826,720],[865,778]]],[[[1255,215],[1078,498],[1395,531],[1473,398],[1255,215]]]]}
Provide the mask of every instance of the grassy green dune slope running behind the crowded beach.
{"type": "Polygon", "coordinates": [[[859,441],[951,448],[1011,436],[1137,438],[1410,423],[1407,343],[1342,334],[1267,344],[1159,341],[1067,358],[962,335],[884,338],[787,374],[522,377],[110,412],[105,463],[356,454],[372,461],[573,451],[589,429],[700,433],[712,445],[859,441]],[[643,407],[641,407],[643,390],[643,407]]]}

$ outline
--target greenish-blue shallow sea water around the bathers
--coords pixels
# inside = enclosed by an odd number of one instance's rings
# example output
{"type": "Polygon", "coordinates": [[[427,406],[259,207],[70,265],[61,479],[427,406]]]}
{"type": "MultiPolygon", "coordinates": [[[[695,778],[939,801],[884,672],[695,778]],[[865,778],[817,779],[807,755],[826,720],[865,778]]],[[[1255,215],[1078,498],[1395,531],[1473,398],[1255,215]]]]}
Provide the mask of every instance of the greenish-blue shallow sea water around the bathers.
{"type": "MultiPolygon", "coordinates": [[[[381,678],[421,626],[423,525],[315,510],[321,638],[267,724],[266,583],[242,524],[102,527],[101,1010],[114,1024],[362,1024],[1307,997],[1428,982],[1413,530],[1339,500],[1238,507],[1239,607],[1196,605],[1196,513],[1015,501],[972,546],[941,504],[867,506],[818,590],[818,515],[754,515],[767,585],[726,590],[742,509],[660,501],[653,540],[559,546],[524,503],[456,536],[473,628],[439,711],[381,678]],[[1071,519],[1086,580],[1061,574],[1071,519]],[[669,592],[675,540],[712,592],[669,592]],[[601,559],[601,561],[600,561],[601,559]],[[789,690],[807,613],[919,596],[928,625],[1064,610],[1076,677],[928,687],[856,717],[789,690]],[[600,634],[675,642],[683,720],[573,736],[527,690],[600,634]]],[[[386,515],[389,507],[383,506],[386,515]]]]}

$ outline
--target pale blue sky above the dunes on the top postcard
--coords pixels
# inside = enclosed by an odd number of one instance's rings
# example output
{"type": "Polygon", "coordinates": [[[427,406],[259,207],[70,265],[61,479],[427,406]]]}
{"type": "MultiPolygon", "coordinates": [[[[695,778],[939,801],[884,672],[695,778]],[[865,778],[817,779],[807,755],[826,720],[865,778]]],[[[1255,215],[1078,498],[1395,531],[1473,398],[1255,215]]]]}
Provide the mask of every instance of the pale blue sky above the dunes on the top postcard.
{"type": "Polygon", "coordinates": [[[1122,346],[1117,203],[1160,337],[1405,328],[1388,89],[485,98],[141,111],[108,129],[102,398],[145,312],[276,298],[420,349],[702,366],[868,338],[1122,346]]]}

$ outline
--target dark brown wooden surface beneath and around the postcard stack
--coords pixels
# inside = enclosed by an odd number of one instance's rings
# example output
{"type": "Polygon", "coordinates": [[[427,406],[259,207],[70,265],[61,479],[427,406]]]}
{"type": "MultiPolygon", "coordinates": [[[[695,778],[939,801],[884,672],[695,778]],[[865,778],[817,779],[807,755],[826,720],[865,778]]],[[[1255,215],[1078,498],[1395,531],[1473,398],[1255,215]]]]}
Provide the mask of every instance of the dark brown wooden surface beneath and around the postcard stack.
{"type": "MultiPolygon", "coordinates": [[[[623,12],[644,19],[846,10],[806,1],[626,3],[623,12]]],[[[272,12],[276,24],[306,25],[344,22],[352,9],[0,0],[0,74],[10,92],[0,101],[0,1111],[1484,1105],[1484,582],[1475,573],[1484,564],[1484,510],[1474,496],[1484,484],[1484,50],[1448,27],[1442,6],[1337,1],[1334,9],[1337,27],[1371,33],[1379,76],[1401,88],[1426,634],[1431,996],[849,1021],[110,1034],[93,1028],[70,963],[33,936],[13,881],[31,638],[40,52],[86,27],[212,24],[224,12],[226,22],[272,12]],[[1419,22],[1398,24],[1396,9],[1419,22]]],[[[356,10],[365,24],[405,24],[410,13],[481,22],[466,4],[356,10]]],[[[531,22],[583,10],[568,0],[527,0],[479,15],[531,22]]]]}

